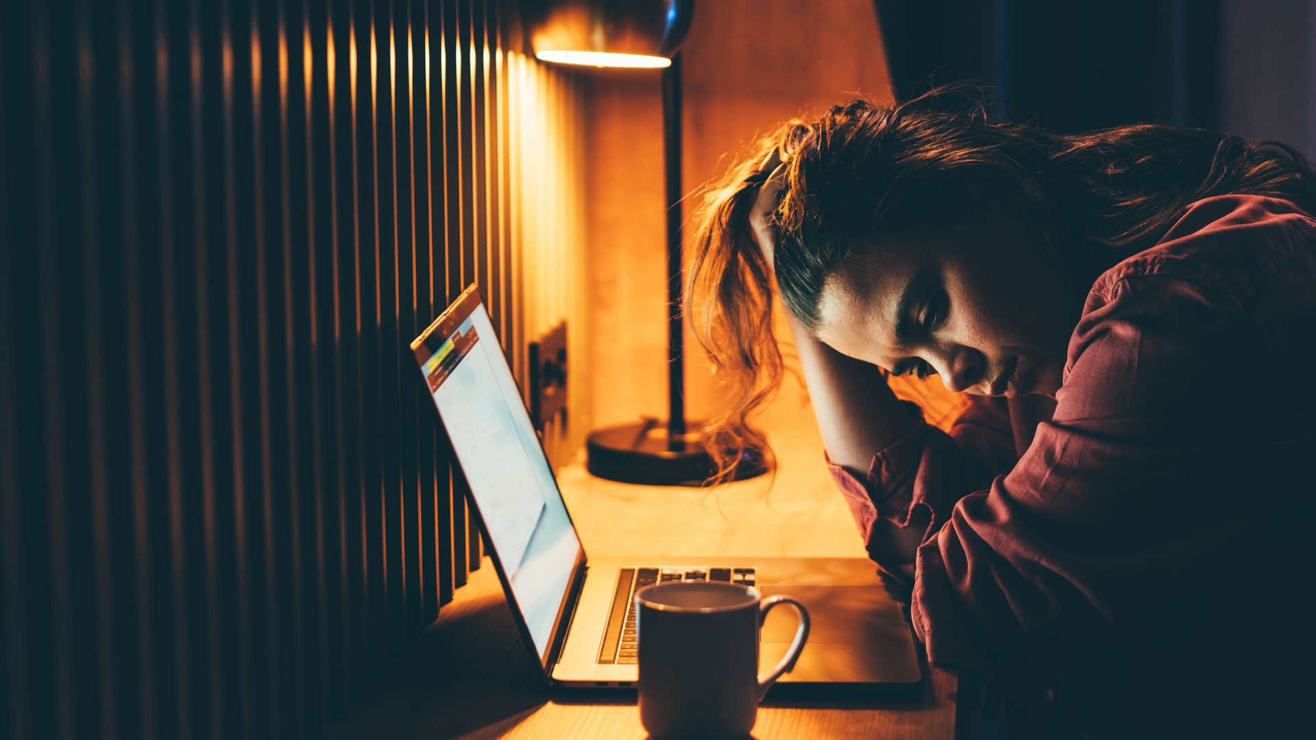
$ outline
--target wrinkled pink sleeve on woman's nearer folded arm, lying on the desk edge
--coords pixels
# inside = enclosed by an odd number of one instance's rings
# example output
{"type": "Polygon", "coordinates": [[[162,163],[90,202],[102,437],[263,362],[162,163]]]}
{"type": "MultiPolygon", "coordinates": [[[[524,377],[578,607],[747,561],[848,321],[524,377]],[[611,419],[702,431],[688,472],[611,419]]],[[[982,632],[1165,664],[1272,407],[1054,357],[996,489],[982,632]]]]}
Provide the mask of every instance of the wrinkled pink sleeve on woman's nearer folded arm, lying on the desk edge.
{"type": "Polygon", "coordinates": [[[1053,420],[919,548],[912,618],[932,662],[1029,700],[1084,643],[1237,571],[1309,495],[1286,482],[1311,437],[1219,392],[1223,367],[1266,362],[1237,308],[1158,275],[1094,291],[1053,420]]]}

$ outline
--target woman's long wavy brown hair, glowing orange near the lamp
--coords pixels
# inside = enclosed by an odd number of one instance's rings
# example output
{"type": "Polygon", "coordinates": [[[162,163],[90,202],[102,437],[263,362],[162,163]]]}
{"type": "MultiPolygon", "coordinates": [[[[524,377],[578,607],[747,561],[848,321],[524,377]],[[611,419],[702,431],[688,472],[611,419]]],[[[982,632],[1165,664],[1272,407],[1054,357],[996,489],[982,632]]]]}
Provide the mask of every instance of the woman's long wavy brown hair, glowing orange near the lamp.
{"type": "Polygon", "coordinates": [[[724,386],[724,406],[705,427],[715,482],[733,475],[744,449],[767,449],[749,416],[782,381],[774,269],[782,303],[815,328],[838,266],[884,234],[957,223],[973,205],[966,182],[1025,198],[1051,254],[1088,284],[1153,246],[1203,198],[1263,195],[1316,213],[1316,176],[1286,145],[1165,125],[1055,134],[988,120],[980,90],[965,84],[783,124],[705,188],[696,215],[686,309],[724,386]],[[774,150],[784,187],[769,215],[778,237],[769,267],[747,215],[770,174],[758,166],[774,150]]]}

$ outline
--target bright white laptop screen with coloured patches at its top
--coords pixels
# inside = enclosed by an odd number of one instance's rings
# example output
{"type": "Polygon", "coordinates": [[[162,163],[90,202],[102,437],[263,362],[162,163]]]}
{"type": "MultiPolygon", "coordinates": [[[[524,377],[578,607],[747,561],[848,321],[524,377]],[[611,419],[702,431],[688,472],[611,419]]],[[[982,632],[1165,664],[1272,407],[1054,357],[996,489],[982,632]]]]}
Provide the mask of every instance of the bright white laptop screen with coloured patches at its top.
{"type": "Polygon", "coordinates": [[[542,662],[580,541],[478,300],[463,294],[412,349],[542,662]]]}

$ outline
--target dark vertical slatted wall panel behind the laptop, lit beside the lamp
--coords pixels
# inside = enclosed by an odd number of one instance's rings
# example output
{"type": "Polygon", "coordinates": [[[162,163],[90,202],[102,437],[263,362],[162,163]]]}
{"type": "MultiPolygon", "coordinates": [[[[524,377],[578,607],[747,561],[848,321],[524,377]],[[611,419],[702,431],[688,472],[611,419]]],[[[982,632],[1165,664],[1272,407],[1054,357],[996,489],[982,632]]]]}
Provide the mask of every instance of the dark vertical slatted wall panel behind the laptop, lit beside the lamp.
{"type": "Polygon", "coordinates": [[[407,342],[471,282],[521,379],[586,328],[580,88],[513,16],[3,12],[9,737],[317,736],[479,566],[407,342]]]}

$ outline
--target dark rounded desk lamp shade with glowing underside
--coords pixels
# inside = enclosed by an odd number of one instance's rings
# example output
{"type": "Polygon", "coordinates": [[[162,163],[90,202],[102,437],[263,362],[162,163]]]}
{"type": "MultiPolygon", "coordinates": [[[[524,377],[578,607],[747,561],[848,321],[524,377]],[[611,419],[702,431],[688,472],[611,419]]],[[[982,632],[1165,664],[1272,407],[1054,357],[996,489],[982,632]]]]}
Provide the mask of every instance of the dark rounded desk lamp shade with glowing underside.
{"type": "Polygon", "coordinates": [[[694,0],[524,0],[530,47],[545,62],[667,67],[694,0]]]}

